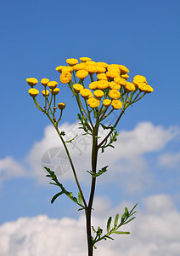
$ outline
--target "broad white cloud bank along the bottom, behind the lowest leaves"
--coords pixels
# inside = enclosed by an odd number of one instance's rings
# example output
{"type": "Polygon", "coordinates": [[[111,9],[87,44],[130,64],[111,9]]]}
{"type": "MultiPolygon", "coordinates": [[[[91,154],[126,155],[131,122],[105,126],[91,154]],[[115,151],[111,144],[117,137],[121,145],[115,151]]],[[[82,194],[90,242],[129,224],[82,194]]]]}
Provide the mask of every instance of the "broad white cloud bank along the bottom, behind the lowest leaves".
{"type": "MultiPolygon", "coordinates": [[[[93,211],[93,225],[106,224],[107,217],[122,212],[105,207],[107,198],[98,198],[93,211]],[[102,206],[104,205],[104,212],[102,206]],[[96,208],[99,207],[96,212],[96,208]],[[112,214],[112,212],[114,212],[112,214]],[[106,216],[105,216],[106,215],[106,216]],[[105,216],[105,218],[104,218],[105,216]]],[[[109,201],[110,205],[110,201],[109,201]]],[[[115,235],[115,241],[97,244],[96,256],[178,256],[180,252],[180,212],[167,195],[153,195],[144,200],[143,210],[136,213],[132,223],[122,230],[131,235],[115,235]]],[[[50,219],[47,216],[19,218],[0,226],[0,256],[85,256],[87,241],[85,219],[50,219]]]]}

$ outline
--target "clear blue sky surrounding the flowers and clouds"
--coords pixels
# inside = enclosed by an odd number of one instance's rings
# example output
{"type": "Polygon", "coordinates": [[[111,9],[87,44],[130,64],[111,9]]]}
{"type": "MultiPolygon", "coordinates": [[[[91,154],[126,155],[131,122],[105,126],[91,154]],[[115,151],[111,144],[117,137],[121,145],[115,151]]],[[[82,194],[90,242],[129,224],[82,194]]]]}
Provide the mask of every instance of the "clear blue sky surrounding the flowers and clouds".
{"type": "MultiPolygon", "coordinates": [[[[141,189],[127,193],[110,176],[109,183],[104,180],[99,184],[97,195],[107,196],[115,207],[120,201],[135,204],[148,196],[163,194],[180,211],[180,2],[10,0],[3,1],[0,7],[0,224],[42,214],[48,218],[74,217],[75,207],[65,198],[50,205],[56,190],[41,182],[37,174],[31,175],[31,168],[26,167],[31,150],[36,152],[35,143],[46,138],[44,131],[49,122],[34,108],[25,79],[47,77],[58,81],[55,67],[65,65],[67,58],[81,56],[125,65],[130,70],[130,80],[136,74],[145,76],[155,91],[127,111],[119,130],[127,137],[131,132],[137,136],[136,127],[161,136],[155,137],[160,141],[152,143],[153,149],[147,146],[138,154],[138,165],[143,162],[141,167],[145,165],[147,169],[133,174],[132,178],[136,181],[139,175],[141,189]],[[143,126],[138,126],[142,123],[143,126]],[[3,167],[7,157],[14,160],[12,165],[21,168],[19,174],[11,172],[10,166],[3,167]],[[107,193],[107,186],[117,189],[117,193],[115,189],[107,193]]],[[[67,105],[63,122],[68,122],[70,127],[76,122],[76,108],[68,88],[65,84],[60,86],[59,100],[67,105]]],[[[127,178],[130,190],[134,185],[131,175],[128,172],[120,177],[127,178]]],[[[71,181],[66,182],[74,189],[71,181]]]]}

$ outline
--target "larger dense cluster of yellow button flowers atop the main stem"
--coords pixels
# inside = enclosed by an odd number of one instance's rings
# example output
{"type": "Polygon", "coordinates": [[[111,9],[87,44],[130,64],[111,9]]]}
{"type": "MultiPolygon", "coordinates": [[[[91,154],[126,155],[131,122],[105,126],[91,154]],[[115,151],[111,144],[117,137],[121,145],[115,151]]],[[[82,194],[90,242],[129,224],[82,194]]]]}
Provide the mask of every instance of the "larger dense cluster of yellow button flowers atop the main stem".
{"type": "Polygon", "coordinates": [[[119,64],[107,64],[105,62],[95,62],[91,58],[82,57],[80,63],[77,59],[67,59],[69,66],[59,66],[56,70],[60,74],[60,82],[69,84],[74,94],[80,94],[87,100],[90,108],[98,108],[100,102],[104,107],[110,105],[114,109],[120,109],[127,101],[127,95],[133,92],[149,93],[153,88],[146,79],[137,75],[132,83],[128,82],[129,70],[119,64]],[[91,83],[85,87],[84,79],[90,76],[91,83]],[[74,77],[74,82],[72,80],[74,77]],[[77,82],[76,79],[79,79],[77,82]]]}

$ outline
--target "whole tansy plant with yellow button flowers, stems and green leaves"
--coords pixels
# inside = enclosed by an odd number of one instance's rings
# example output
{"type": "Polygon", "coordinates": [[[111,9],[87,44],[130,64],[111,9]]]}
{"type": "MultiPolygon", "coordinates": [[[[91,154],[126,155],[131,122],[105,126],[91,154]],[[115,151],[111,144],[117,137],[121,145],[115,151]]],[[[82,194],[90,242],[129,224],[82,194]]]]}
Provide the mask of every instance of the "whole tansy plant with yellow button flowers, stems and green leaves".
{"type": "MultiPolygon", "coordinates": [[[[80,63],[77,59],[71,58],[66,60],[68,66],[56,67],[60,73],[60,82],[67,84],[71,90],[71,95],[76,101],[79,108],[77,119],[79,119],[79,128],[83,129],[82,136],[90,136],[92,138],[91,151],[91,170],[87,171],[89,175],[89,182],[91,183],[90,194],[85,198],[82,191],[81,184],[78,179],[76,166],[70,156],[68,143],[76,140],[76,137],[71,138],[70,141],[65,141],[65,131],[59,131],[59,122],[62,119],[62,114],[65,111],[65,102],[59,102],[59,88],[56,81],[49,81],[49,79],[42,79],[42,96],[44,97],[44,106],[40,106],[37,102],[37,95],[39,90],[34,86],[38,83],[37,79],[26,79],[31,86],[28,91],[33,101],[43,114],[46,114],[51,121],[53,127],[59,135],[59,139],[65,147],[65,152],[70,160],[72,174],[78,188],[78,195],[74,196],[72,192],[65,189],[62,183],[59,182],[58,177],[49,168],[44,167],[51,178],[51,184],[59,187],[59,193],[53,196],[52,203],[59,195],[67,195],[71,201],[78,205],[79,210],[83,210],[86,215],[87,228],[87,246],[88,256],[93,255],[93,247],[96,248],[98,241],[112,239],[113,234],[130,234],[129,232],[121,231],[121,226],[132,221],[134,217],[134,209],[137,204],[132,207],[132,210],[127,210],[119,218],[117,213],[112,223],[112,218],[108,218],[106,230],[100,227],[93,227],[91,224],[93,199],[96,187],[96,179],[104,172],[107,172],[108,166],[102,166],[97,170],[98,153],[104,153],[105,148],[115,148],[114,143],[117,140],[116,127],[120,122],[121,117],[129,106],[132,106],[146,94],[153,91],[153,88],[147,83],[145,77],[136,75],[132,82],[127,81],[129,70],[127,67],[119,64],[107,64],[105,62],[95,62],[90,58],[80,58],[80,63]],[[87,83],[87,77],[90,83],[87,83]],[[113,124],[106,124],[105,121],[111,113],[115,112],[116,119],[113,124]],[[99,135],[99,129],[103,128],[107,132],[104,137],[99,135]]],[[[107,174],[106,174],[107,175],[107,174]]]]}

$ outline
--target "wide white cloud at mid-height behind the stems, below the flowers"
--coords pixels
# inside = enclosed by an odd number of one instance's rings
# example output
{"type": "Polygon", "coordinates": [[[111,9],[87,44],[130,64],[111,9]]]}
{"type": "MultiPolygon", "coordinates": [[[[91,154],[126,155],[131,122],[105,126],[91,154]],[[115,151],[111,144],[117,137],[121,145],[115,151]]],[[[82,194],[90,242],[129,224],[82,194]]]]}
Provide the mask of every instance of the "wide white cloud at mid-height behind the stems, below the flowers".
{"type": "MultiPolygon", "coordinates": [[[[82,130],[78,129],[77,124],[70,125],[65,123],[59,127],[59,130],[66,131],[67,140],[75,137],[76,133],[79,134],[72,143],[67,143],[67,146],[70,148],[78,177],[87,183],[88,174],[86,171],[91,170],[91,137],[81,137],[82,130]]],[[[104,136],[103,132],[100,130],[101,136],[104,136]]],[[[163,150],[166,148],[166,144],[173,141],[179,133],[180,131],[177,127],[170,126],[165,129],[150,122],[140,123],[132,131],[120,131],[118,140],[115,143],[115,149],[107,148],[104,154],[100,152],[98,154],[98,168],[109,166],[110,171],[104,174],[99,179],[99,182],[116,182],[123,180],[126,175],[126,187],[129,193],[135,193],[149,186],[153,182],[153,176],[149,172],[149,161],[145,154],[163,150]]],[[[46,127],[42,141],[35,143],[34,147],[31,148],[31,152],[27,155],[26,161],[30,166],[29,173],[37,177],[39,182],[48,183],[45,173],[42,171],[41,160],[42,155],[48,148],[55,147],[59,147],[59,150],[62,150],[59,154],[64,158],[64,162],[61,163],[59,168],[63,169],[62,166],[66,164],[67,157],[53,126],[46,127]]],[[[53,161],[55,158],[51,160],[53,161]]],[[[53,161],[52,165],[57,165],[57,163],[53,161]]],[[[48,166],[48,163],[46,166],[48,166]]],[[[73,178],[70,166],[68,167],[68,172],[61,176],[61,180],[73,178]]]]}

